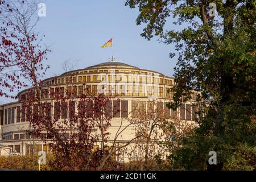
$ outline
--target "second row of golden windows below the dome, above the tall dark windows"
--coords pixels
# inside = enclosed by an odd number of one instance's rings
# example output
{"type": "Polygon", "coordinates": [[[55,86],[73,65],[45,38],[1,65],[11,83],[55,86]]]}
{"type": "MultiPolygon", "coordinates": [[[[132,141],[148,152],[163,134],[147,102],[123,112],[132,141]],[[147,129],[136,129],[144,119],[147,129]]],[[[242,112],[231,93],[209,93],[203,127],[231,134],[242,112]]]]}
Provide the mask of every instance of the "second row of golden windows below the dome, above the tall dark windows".
{"type": "MultiPolygon", "coordinates": [[[[104,93],[107,96],[141,96],[141,97],[161,97],[172,98],[173,93],[170,88],[144,85],[80,85],[80,86],[61,86],[47,88],[40,91],[40,98],[59,98],[59,97],[80,97],[82,94],[87,96],[97,96],[104,93]]],[[[34,93],[26,93],[20,96],[20,101],[29,97],[35,97],[34,93]]]]}

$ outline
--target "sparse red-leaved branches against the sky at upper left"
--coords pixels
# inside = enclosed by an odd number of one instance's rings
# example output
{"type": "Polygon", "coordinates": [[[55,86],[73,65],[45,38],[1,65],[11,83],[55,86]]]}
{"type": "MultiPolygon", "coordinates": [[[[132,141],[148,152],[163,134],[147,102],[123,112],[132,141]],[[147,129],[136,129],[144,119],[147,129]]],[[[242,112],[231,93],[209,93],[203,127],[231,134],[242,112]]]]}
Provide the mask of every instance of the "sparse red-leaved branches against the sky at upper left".
{"type": "Polygon", "coordinates": [[[37,8],[36,2],[0,1],[0,96],[16,98],[11,92],[28,82],[38,86],[48,68],[42,62],[49,49],[42,46],[44,35],[35,31],[37,8]]]}

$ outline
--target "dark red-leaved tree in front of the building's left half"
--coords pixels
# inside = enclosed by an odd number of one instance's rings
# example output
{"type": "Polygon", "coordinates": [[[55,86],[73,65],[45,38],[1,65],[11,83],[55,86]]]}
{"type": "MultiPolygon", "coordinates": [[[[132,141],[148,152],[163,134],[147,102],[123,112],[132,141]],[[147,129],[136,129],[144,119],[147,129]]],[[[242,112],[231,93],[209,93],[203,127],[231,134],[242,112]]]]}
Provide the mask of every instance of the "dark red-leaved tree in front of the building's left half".
{"type": "Polygon", "coordinates": [[[36,97],[27,97],[23,101],[23,106],[33,107],[32,117],[29,118],[30,134],[51,146],[55,156],[52,169],[123,169],[116,160],[119,151],[137,136],[121,144],[117,142],[130,126],[123,125],[125,118],[121,118],[116,132],[109,133],[112,117],[119,112],[118,107],[113,106],[113,111],[111,109],[113,97],[86,92],[78,96],[76,89],[66,90],[65,96],[58,91],[52,94],[55,98],[53,112],[51,102],[43,102],[36,97]],[[110,135],[113,136],[111,141],[110,135]]]}

